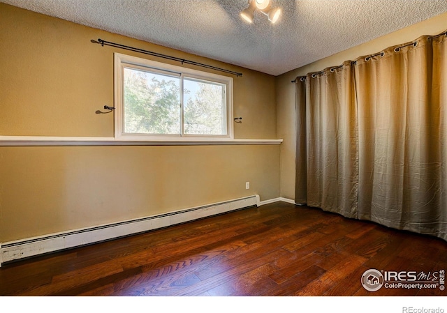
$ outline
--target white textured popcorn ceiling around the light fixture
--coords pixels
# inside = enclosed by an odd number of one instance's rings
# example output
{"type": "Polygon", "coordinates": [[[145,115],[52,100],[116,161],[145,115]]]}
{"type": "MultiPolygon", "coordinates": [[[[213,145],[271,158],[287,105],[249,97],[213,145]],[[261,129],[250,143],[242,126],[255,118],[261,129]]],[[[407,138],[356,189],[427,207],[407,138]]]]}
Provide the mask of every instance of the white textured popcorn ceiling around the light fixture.
{"type": "Polygon", "coordinates": [[[243,22],[247,0],[0,2],[271,75],[447,11],[446,0],[272,0],[283,12],[272,25],[259,12],[243,22]]]}

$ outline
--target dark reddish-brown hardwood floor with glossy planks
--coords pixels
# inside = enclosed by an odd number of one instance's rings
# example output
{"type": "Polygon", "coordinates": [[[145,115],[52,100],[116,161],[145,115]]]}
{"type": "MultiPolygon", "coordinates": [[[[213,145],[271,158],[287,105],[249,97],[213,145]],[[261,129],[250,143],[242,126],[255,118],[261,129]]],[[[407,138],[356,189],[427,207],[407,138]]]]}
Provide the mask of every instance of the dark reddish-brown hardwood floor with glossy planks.
{"type": "Polygon", "coordinates": [[[1,296],[446,296],[365,270],[447,270],[447,242],[284,202],[0,268],[1,296]]]}

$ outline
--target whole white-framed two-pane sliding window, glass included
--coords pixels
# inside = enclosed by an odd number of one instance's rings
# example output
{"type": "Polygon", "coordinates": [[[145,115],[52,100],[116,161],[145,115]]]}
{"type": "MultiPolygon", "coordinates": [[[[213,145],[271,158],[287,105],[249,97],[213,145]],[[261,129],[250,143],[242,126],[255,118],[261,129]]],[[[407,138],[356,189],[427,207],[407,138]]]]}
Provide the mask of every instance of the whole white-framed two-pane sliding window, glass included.
{"type": "Polygon", "coordinates": [[[115,138],[233,139],[233,79],[115,54],[115,138]]]}

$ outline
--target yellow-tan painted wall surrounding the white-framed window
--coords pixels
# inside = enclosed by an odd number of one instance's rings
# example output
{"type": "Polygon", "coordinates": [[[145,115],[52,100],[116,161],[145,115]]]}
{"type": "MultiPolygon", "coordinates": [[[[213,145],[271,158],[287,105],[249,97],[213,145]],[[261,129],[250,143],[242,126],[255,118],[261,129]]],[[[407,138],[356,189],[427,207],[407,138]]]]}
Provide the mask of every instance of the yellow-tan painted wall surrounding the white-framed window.
{"type": "MultiPolygon", "coordinates": [[[[113,137],[112,114],[95,114],[113,105],[113,53],[167,60],[90,42],[101,38],[242,72],[233,77],[234,115],[243,118],[234,125],[235,138],[277,139],[271,75],[4,3],[0,33],[0,135],[113,137]]],[[[279,151],[261,145],[3,146],[0,242],[251,194],[277,198],[279,151]]]]}

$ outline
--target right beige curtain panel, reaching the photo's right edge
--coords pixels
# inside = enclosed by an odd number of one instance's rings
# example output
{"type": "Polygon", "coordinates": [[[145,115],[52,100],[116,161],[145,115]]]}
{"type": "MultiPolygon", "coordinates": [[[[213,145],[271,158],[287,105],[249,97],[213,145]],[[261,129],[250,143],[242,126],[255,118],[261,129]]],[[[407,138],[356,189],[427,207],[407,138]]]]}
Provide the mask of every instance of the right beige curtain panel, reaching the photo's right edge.
{"type": "Polygon", "coordinates": [[[425,36],[359,59],[355,76],[358,217],[447,240],[445,41],[425,36]]]}

